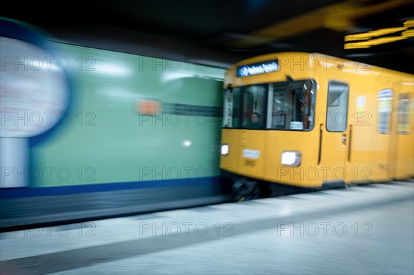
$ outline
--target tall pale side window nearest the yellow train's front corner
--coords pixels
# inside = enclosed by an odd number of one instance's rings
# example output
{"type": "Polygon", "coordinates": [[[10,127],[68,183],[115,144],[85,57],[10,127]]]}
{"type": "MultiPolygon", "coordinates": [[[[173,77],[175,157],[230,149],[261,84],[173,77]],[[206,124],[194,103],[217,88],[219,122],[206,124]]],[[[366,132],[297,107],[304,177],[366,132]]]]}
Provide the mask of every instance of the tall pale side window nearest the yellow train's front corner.
{"type": "Polygon", "coordinates": [[[326,107],[326,130],[344,132],[348,114],[348,84],[330,81],[328,84],[328,105],[326,107]]]}

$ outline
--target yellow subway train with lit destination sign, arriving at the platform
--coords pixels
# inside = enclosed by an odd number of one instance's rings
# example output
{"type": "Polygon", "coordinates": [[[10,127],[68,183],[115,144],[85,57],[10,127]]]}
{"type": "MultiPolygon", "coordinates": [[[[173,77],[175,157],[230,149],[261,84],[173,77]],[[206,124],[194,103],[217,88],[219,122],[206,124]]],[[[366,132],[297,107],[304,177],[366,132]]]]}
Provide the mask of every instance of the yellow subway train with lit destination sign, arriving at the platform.
{"type": "Polygon", "coordinates": [[[318,53],[246,59],[225,74],[220,169],[237,201],[410,179],[413,110],[412,74],[318,53]]]}

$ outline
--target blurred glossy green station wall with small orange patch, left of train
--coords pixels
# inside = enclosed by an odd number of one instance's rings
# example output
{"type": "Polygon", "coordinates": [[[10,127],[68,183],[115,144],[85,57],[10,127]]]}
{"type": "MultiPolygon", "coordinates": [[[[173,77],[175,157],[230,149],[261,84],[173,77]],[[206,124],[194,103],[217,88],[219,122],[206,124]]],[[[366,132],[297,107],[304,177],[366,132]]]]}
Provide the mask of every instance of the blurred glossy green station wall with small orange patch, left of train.
{"type": "Polygon", "coordinates": [[[52,46],[68,68],[70,103],[57,128],[30,147],[30,186],[219,175],[222,69],[52,46]],[[147,103],[157,113],[140,112],[147,103]]]}

